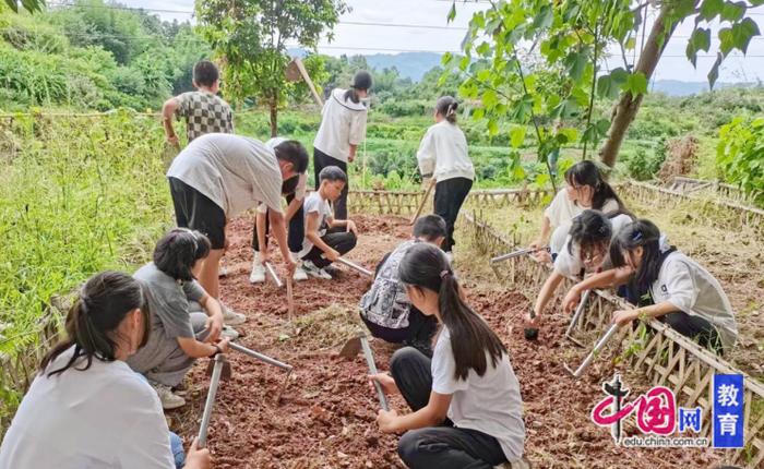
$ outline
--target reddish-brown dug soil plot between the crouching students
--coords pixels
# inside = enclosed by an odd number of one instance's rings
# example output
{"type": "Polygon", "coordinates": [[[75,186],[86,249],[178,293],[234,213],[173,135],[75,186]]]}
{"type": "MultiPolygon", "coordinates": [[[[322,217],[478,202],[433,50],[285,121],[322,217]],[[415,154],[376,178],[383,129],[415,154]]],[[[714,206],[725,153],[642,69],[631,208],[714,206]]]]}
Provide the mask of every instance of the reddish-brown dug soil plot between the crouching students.
{"type": "MultiPolygon", "coordinates": [[[[410,227],[401,217],[357,217],[359,245],[348,254],[368,268],[408,237],[410,227]]],[[[226,254],[229,275],[223,279],[223,298],[249,321],[239,329],[239,342],[295,366],[280,405],[275,395],[285,372],[229,353],[234,377],[218,390],[210,447],[217,468],[398,468],[397,436],[383,435],[374,418],[378,401],[366,381],[361,356],[347,361],[337,357],[344,341],[357,330],[358,299],[369,280],[338,267],[333,280],[296,284],[297,314],[287,324],[286,291],[273,284],[252,286],[251,221],[232,223],[231,251],[226,254]]],[[[459,245],[461,246],[461,245],[459,245]]],[[[708,467],[716,457],[701,449],[623,449],[613,446],[609,432],[589,421],[592,407],[604,395],[599,384],[613,368],[598,361],[586,378],[575,382],[562,369],[563,360],[580,360],[583,352],[561,341],[564,321],[550,316],[541,340],[522,337],[527,300],[504,291],[489,274],[485,258],[463,248],[457,270],[469,291],[470,303],[482,313],[510,348],[521,382],[528,432],[527,457],[537,468],[673,468],[708,467]]],[[[373,340],[378,365],[387,369],[394,348],[373,340]]],[[[171,412],[172,428],[188,442],[198,432],[208,378],[200,361],[186,390],[190,400],[171,412]]],[[[624,371],[624,375],[625,371],[624,371]]],[[[637,378],[625,381],[641,390],[637,378]]],[[[403,410],[394,398],[392,406],[403,410]]],[[[626,425],[626,433],[633,431],[626,425]]]]}

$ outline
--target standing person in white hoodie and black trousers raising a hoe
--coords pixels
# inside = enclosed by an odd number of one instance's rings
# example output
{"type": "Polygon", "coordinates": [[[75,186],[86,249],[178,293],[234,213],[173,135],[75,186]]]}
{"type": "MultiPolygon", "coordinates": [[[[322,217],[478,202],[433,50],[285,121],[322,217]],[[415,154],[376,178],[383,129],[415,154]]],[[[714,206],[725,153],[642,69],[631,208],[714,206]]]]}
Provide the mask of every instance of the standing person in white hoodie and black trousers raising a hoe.
{"type": "MultiPolygon", "coordinates": [[[[319,189],[319,175],[327,166],[336,166],[345,175],[347,165],[356,159],[356,149],[366,139],[368,110],[361,99],[371,89],[371,74],[366,70],[356,72],[349,89],[336,88],[324,104],[321,125],[313,141],[313,173],[315,189],[319,189]]],[[[347,219],[347,190],[334,202],[334,215],[347,219]]]]}

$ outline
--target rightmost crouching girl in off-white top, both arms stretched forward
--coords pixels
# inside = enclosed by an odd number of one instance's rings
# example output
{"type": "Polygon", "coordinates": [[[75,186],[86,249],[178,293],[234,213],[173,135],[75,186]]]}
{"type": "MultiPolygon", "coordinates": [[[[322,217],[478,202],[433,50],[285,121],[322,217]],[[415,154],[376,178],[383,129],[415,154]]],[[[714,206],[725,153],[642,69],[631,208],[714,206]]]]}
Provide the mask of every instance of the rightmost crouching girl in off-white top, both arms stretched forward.
{"type": "Polygon", "coordinates": [[[738,326],[721,285],[695,261],[661,241],[658,227],[649,220],[624,227],[610,244],[616,268],[575,285],[563,308],[575,308],[584,290],[628,284],[638,308],[616,311],[614,324],[657,317],[702,347],[716,353],[728,351],[737,340],[738,326]]]}

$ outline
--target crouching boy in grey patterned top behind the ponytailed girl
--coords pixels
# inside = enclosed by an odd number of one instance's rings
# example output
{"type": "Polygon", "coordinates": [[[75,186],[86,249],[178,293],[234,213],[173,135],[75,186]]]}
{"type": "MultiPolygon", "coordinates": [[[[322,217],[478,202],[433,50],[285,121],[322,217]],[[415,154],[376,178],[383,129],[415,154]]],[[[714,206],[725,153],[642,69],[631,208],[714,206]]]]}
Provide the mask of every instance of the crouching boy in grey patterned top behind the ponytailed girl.
{"type": "Polygon", "coordinates": [[[360,301],[360,315],[371,335],[389,342],[415,347],[432,357],[432,337],[438,321],[417,310],[406,296],[398,278],[398,266],[408,250],[419,243],[440,248],[447,236],[445,220],[439,215],[427,215],[414,224],[414,239],[385,254],[377,266],[371,289],[360,301]]]}

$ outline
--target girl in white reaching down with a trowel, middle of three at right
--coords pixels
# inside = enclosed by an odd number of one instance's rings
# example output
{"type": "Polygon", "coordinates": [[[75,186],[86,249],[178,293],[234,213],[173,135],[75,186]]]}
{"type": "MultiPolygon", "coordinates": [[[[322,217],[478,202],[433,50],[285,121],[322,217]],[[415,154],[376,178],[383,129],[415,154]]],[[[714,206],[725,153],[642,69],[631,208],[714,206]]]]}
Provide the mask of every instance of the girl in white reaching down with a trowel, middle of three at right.
{"type": "Polygon", "coordinates": [[[611,238],[632,221],[633,218],[625,214],[605,215],[592,209],[573,218],[565,242],[554,258],[552,273],[536,298],[536,317],[532,320],[530,314],[525,315],[528,326],[538,326],[544,310],[565,277],[583,277],[585,273],[597,272],[609,264],[607,254],[611,238]]]}

